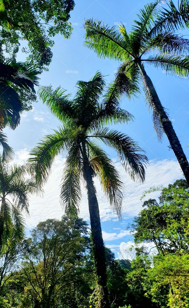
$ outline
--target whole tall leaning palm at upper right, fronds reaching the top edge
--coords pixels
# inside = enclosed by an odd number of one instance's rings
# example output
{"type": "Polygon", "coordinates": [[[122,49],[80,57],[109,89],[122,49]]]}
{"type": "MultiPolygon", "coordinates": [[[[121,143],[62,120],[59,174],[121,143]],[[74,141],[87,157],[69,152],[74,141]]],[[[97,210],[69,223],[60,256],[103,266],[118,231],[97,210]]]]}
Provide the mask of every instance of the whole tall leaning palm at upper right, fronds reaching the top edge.
{"type": "Polygon", "coordinates": [[[174,131],[155,87],[147,75],[144,63],[161,67],[167,74],[181,78],[189,77],[189,40],[175,29],[189,27],[189,2],[181,1],[179,9],[173,2],[168,7],[162,7],[162,1],[145,5],[137,14],[139,20],[134,20],[131,32],[127,33],[124,25],[109,27],[101,21],[86,20],[85,45],[94,50],[99,57],[118,60],[120,67],[115,74],[115,80],[109,87],[109,107],[112,94],[119,99],[122,95],[137,97],[141,92],[141,80],[147,106],[152,110],[154,128],[159,140],[165,132],[170,147],[180,164],[183,174],[189,184],[189,164],[183,152],[180,141],[174,131]],[[152,54],[149,54],[152,52],[152,54]]]}

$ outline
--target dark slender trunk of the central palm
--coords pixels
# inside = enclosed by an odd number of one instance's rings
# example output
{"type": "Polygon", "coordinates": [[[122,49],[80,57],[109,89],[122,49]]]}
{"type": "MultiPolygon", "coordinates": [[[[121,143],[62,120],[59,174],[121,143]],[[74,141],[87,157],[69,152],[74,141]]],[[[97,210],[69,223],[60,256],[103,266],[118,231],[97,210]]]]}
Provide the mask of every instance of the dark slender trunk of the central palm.
{"type": "Polygon", "coordinates": [[[110,308],[110,300],[107,289],[107,274],[106,274],[106,257],[104,242],[102,237],[102,229],[100,224],[99,205],[94,188],[92,170],[86,155],[85,142],[82,143],[83,150],[83,167],[85,172],[85,180],[88,192],[89,213],[91,233],[94,245],[94,262],[96,267],[97,279],[99,286],[102,287],[101,307],[110,308]]]}

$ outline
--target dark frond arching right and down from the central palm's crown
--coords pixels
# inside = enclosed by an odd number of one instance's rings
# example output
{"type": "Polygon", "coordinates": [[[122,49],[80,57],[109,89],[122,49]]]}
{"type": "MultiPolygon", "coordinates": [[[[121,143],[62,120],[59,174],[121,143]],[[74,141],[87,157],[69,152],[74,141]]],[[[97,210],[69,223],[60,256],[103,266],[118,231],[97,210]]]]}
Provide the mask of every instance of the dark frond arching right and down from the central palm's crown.
{"type": "Polygon", "coordinates": [[[93,132],[91,136],[102,140],[108,147],[116,150],[121,163],[132,180],[145,180],[145,167],[148,159],[136,142],[129,136],[108,128],[102,128],[93,132]]]}

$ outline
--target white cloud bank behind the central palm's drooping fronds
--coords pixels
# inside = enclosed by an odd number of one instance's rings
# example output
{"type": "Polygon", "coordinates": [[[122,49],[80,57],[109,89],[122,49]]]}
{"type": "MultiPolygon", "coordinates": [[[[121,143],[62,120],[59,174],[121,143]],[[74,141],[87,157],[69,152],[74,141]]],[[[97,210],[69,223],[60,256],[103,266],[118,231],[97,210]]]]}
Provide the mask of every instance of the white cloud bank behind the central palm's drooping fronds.
{"type": "MultiPolygon", "coordinates": [[[[15,158],[19,163],[23,163],[27,157],[27,149],[16,152],[15,158]]],[[[50,217],[61,218],[62,214],[64,213],[59,202],[60,183],[64,162],[65,158],[62,156],[59,156],[55,159],[55,162],[52,166],[52,174],[49,177],[48,183],[44,187],[43,198],[31,196],[30,218],[27,218],[26,221],[28,227],[33,227],[39,221],[48,219],[50,217]]],[[[132,182],[120,163],[117,162],[115,165],[121,173],[123,182],[127,185],[123,205],[123,219],[128,219],[139,213],[142,205],[140,197],[144,190],[153,185],[156,186],[162,184],[163,186],[166,186],[169,183],[173,183],[174,180],[182,177],[182,173],[179,170],[179,164],[175,160],[165,159],[161,161],[150,161],[148,170],[146,172],[146,181],[145,184],[142,185],[132,182]]],[[[97,190],[101,221],[118,221],[116,215],[111,211],[108,201],[104,197],[104,193],[101,189],[99,181],[95,179],[94,182],[97,190]]],[[[80,206],[80,216],[89,221],[88,200],[84,188],[82,188],[82,192],[83,197],[80,206]]],[[[157,198],[158,195],[158,192],[153,193],[150,196],[147,196],[146,199],[149,197],[157,198]]],[[[124,222],[119,223],[120,225],[123,224],[124,227],[124,222]]],[[[111,237],[113,239],[119,239],[124,237],[127,232],[128,231],[121,230],[120,233],[104,233],[104,236],[111,237]]]]}

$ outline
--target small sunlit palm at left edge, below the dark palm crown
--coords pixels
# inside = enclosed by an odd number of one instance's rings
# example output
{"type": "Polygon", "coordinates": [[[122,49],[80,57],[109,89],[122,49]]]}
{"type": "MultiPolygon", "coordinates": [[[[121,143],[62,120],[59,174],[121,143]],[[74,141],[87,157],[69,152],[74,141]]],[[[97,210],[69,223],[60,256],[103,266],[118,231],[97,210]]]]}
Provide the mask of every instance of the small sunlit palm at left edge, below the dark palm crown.
{"type": "Polygon", "coordinates": [[[26,178],[27,168],[9,166],[0,156],[0,255],[6,252],[8,243],[23,239],[24,220],[22,212],[29,214],[29,194],[39,193],[41,188],[26,178]]]}

